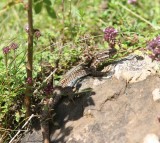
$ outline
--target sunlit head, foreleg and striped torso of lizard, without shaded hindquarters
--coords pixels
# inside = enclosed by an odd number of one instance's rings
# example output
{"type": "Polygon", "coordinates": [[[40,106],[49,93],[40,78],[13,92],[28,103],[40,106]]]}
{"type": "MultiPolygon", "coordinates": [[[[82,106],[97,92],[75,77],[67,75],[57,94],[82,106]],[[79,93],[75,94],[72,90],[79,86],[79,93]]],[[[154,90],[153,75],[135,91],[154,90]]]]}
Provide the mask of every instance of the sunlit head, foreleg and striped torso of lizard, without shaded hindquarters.
{"type": "Polygon", "coordinates": [[[111,58],[117,53],[116,49],[107,49],[93,55],[89,61],[80,63],[69,70],[60,80],[60,86],[62,87],[74,87],[77,81],[85,76],[103,76],[106,72],[98,71],[98,67],[107,59],[111,58]]]}

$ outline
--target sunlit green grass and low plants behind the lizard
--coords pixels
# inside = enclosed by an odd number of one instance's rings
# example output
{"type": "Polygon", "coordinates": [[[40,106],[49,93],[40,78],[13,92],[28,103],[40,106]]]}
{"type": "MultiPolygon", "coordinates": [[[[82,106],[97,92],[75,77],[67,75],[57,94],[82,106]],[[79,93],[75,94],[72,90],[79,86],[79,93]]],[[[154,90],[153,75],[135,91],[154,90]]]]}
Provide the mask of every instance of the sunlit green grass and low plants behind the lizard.
{"type": "MultiPolygon", "coordinates": [[[[16,126],[25,112],[20,106],[12,113],[11,107],[24,96],[27,11],[22,4],[2,9],[6,4],[5,0],[0,3],[0,127],[7,129],[9,124],[16,126]],[[18,43],[19,48],[16,56],[13,51],[9,54],[6,68],[2,48],[12,41],[18,43]]],[[[83,50],[89,45],[108,48],[103,39],[103,30],[108,26],[118,30],[117,39],[126,54],[137,48],[145,49],[147,41],[160,33],[159,0],[139,0],[135,5],[128,4],[127,0],[72,0],[64,3],[64,12],[62,1],[54,0],[52,7],[56,19],[49,17],[45,9],[33,15],[34,27],[42,33],[34,43],[34,77],[41,70],[42,59],[55,66],[54,62],[60,57],[61,69],[55,75],[58,80],[81,59],[83,50]]],[[[116,47],[120,50],[118,45],[116,47]]]]}

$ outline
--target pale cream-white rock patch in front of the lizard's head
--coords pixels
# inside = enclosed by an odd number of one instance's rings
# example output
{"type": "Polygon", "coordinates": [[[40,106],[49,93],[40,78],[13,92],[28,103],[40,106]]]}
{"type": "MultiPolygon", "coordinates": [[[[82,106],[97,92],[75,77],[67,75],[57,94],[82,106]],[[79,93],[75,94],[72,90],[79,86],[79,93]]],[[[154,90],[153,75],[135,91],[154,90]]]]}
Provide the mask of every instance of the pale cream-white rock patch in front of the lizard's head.
{"type": "Polygon", "coordinates": [[[134,83],[146,79],[149,75],[157,74],[159,71],[157,61],[152,61],[147,55],[142,55],[119,62],[115,67],[114,76],[117,79],[123,78],[127,82],[134,83]]]}

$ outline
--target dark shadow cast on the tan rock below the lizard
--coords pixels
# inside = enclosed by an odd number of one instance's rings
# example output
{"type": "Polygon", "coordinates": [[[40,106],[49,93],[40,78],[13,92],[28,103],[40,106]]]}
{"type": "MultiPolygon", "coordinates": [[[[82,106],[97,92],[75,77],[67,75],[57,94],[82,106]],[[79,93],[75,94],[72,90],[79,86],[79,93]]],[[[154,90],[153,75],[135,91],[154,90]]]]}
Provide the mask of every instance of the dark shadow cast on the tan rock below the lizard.
{"type": "Polygon", "coordinates": [[[55,107],[54,122],[50,123],[51,143],[65,142],[65,138],[73,130],[73,122],[83,117],[84,109],[87,106],[95,105],[92,99],[93,95],[95,95],[94,91],[87,91],[75,98],[74,102],[66,97],[62,99],[55,107]]]}

